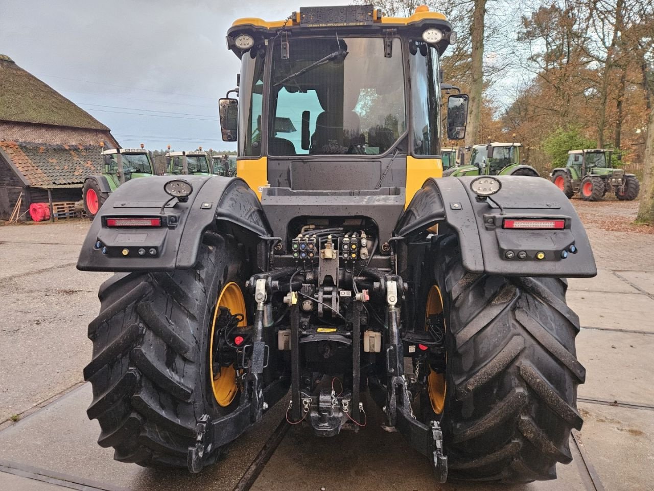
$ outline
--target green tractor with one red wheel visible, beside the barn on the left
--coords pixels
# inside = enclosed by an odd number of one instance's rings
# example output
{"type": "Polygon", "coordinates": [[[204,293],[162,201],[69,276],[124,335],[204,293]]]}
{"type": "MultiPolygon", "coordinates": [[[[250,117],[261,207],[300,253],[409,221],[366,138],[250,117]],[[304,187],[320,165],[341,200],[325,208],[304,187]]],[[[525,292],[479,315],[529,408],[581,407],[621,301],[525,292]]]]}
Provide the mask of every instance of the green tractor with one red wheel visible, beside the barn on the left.
{"type": "Polygon", "coordinates": [[[82,187],[84,210],[91,219],[118,186],[137,177],[155,174],[152,155],[145,150],[143,143],[140,149],[109,149],[102,151],[101,155],[102,174],[89,175],[82,187]]]}

